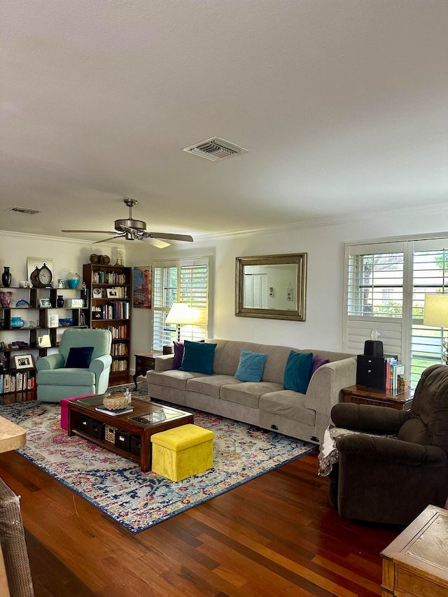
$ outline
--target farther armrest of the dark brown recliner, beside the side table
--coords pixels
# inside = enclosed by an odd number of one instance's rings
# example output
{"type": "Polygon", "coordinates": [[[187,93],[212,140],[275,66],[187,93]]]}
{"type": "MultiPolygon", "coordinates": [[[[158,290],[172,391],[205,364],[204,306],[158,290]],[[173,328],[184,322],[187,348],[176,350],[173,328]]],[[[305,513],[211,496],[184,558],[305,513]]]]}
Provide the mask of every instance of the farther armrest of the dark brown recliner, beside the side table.
{"type": "Polygon", "coordinates": [[[336,427],[380,435],[398,433],[409,416],[409,411],[354,402],[340,402],[331,409],[331,420],[336,427]]]}

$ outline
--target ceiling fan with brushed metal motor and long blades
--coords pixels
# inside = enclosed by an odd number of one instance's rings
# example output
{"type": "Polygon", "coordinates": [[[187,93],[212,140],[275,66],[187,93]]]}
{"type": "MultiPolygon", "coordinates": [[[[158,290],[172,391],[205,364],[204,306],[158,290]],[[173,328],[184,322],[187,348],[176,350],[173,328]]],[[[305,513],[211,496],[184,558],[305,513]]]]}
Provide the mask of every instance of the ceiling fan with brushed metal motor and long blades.
{"type": "Polygon", "coordinates": [[[62,230],[61,232],[96,232],[98,234],[113,234],[113,237],[95,241],[94,244],[104,243],[112,239],[123,238],[127,241],[146,241],[158,248],[169,246],[169,243],[162,239],[173,241],[193,242],[193,237],[190,234],[168,234],[165,232],[146,232],[146,222],[142,220],[134,220],[132,218],[132,208],[138,203],[137,199],[123,199],[125,204],[129,207],[129,218],[127,220],[115,220],[115,230],[62,230]]]}

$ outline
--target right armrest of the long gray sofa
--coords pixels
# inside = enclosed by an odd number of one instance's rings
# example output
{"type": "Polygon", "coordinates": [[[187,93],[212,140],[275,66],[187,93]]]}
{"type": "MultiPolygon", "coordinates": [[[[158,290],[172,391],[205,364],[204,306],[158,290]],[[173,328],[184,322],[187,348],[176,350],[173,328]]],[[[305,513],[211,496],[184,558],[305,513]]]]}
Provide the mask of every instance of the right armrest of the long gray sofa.
{"type": "Polygon", "coordinates": [[[305,407],[330,415],[333,405],[342,400],[342,388],[356,382],[356,357],[321,365],[311,377],[305,407]]]}

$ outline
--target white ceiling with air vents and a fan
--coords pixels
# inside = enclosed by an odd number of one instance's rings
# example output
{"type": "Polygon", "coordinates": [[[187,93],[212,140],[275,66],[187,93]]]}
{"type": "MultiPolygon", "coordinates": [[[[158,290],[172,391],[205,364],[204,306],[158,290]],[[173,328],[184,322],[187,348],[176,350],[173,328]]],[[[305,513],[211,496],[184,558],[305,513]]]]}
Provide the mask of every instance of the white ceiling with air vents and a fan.
{"type": "Polygon", "coordinates": [[[193,236],[448,202],[447,0],[3,0],[0,229],[193,236]],[[220,136],[223,162],[182,148],[220,136]],[[19,215],[13,206],[42,213],[19,215]]]}

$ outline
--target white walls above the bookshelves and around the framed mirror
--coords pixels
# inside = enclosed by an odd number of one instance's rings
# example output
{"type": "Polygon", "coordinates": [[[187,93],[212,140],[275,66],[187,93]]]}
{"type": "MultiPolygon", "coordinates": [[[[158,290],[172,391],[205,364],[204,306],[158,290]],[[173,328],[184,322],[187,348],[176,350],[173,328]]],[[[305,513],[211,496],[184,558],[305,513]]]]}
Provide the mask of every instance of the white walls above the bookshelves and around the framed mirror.
{"type": "MultiPolygon", "coordinates": [[[[375,214],[369,220],[332,223],[295,230],[232,237],[156,249],[138,241],[125,246],[103,244],[101,251],[111,256],[124,252],[124,265],[151,265],[153,259],[210,255],[212,262],[211,322],[209,335],[267,344],[284,344],[304,349],[342,349],[342,299],[344,243],[400,235],[440,232],[448,221],[447,211],[434,213],[375,214]],[[235,258],[275,253],[308,253],[306,321],[281,321],[235,316],[235,258]]],[[[0,272],[9,265],[13,286],[27,274],[27,256],[50,256],[55,278],[64,272],[82,274],[83,263],[99,246],[28,235],[0,234],[0,272]]],[[[25,276],[25,277],[24,277],[25,276]]],[[[131,354],[151,350],[152,311],[133,309],[131,354]]],[[[134,359],[131,358],[131,368],[134,359]]]]}

